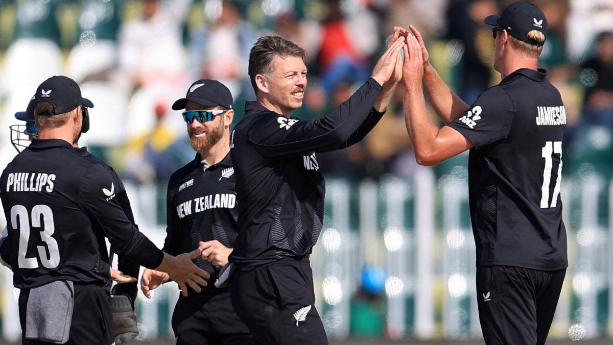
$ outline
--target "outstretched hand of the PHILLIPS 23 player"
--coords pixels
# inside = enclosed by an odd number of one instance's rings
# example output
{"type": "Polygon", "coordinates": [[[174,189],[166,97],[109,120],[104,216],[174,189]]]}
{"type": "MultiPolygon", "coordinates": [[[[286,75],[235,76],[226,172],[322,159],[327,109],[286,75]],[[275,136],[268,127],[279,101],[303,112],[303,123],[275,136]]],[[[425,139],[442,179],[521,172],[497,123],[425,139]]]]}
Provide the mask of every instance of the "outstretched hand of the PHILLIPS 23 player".
{"type": "Polygon", "coordinates": [[[172,258],[170,261],[171,267],[166,273],[168,273],[170,279],[179,284],[183,296],[188,295],[186,284],[191,286],[196,292],[202,291],[200,286],[207,286],[207,281],[205,281],[205,279],[210,278],[210,275],[206,271],[198,268],[192,262],[192,260],[200,256],[201,252],[202,249],[197,248],[194,251],[180,254],[176,257],[164,254],[165,259],[166,257],[172,258]]]}

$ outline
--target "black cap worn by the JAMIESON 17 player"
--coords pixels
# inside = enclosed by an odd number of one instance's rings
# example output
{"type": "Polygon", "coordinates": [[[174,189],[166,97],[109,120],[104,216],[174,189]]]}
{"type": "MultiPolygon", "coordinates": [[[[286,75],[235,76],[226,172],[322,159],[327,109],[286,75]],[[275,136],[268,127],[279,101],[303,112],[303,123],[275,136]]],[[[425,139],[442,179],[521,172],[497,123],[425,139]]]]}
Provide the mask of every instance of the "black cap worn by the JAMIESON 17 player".
{"type": "Polygon", "coordinates": [[[528,38],[528,32],[537,30],[547,37],[547,18],[541,9],[527,1],[513,2],[501,15],[490,15],[485,18],[485,24],[504,29],[509,35],[531,45],[541,46],[545,42],[537,42],[528,38]]]}

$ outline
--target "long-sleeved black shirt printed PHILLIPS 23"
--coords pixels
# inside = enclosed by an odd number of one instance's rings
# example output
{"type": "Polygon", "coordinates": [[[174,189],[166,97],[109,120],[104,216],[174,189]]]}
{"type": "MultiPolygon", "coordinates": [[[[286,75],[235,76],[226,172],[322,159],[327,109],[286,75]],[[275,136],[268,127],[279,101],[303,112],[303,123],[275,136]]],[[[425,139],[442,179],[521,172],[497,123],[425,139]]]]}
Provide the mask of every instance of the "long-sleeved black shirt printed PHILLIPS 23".
{"type": "Polygon", "coordinates": [[[119,182],[99,162],[68,142],[39,140],[15,156],[0,177],[0,198],[9,234],[2,257],[10,257],[20,289],[59,279],[105,286],[109,255],[155,268],[163,253],[128,219],[116,199],[119,182]]]}

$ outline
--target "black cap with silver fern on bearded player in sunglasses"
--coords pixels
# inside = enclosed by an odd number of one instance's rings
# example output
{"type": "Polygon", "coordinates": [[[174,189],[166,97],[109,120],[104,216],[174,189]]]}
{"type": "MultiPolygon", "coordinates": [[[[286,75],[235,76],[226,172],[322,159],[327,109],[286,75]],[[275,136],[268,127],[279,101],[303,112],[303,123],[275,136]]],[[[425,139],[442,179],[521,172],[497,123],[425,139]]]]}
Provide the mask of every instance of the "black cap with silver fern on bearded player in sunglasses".
{"type": "Polygon", "coordinates": [[[185,98],[178,99],[172,104],[172,110],[185,109],[185,102],[188,100],[208,107],[221,105],[228,109],[232,109],[232,103],[234,102],[232,93],[226,85],[211,79],[200,79],[192,83],[185,98]]]}

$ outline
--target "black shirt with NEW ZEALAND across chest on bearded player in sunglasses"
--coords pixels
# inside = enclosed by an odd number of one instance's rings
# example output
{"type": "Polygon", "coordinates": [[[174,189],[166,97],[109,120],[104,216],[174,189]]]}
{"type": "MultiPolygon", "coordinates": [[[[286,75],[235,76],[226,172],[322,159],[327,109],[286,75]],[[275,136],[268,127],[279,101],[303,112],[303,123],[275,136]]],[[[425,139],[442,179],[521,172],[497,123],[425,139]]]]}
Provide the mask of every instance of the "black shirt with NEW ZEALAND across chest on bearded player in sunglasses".
{"type": "MultiPolygon", "coordinates": [[[[230,154],[206,169],[196,154],[196,159],[173,173],[168,183],[166,241],[162,250],[177,256],[198,248],[200,241],[211,240],[232,248],[238,217],[235,184],[230,154]]],[[[194,263],[211,275],[203,291],[219,292],[214,284],[219,268],[202,257],[194,263]]]]}

